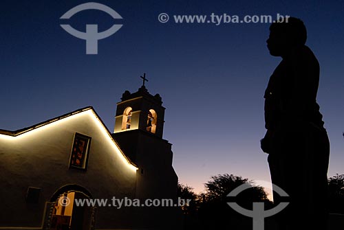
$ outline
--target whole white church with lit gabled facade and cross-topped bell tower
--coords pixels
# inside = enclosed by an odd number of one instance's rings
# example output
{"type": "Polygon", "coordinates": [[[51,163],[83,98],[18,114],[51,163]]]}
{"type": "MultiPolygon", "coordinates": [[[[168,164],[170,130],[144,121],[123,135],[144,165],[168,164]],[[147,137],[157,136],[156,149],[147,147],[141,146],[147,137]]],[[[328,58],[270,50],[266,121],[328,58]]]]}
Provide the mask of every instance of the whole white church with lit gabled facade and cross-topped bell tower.
{"type": "Polygon", "coordinates": [[[0,130],[0,229],[182,229],[164,112],[143,84],[113,133],[92,106],[0,130]]]}

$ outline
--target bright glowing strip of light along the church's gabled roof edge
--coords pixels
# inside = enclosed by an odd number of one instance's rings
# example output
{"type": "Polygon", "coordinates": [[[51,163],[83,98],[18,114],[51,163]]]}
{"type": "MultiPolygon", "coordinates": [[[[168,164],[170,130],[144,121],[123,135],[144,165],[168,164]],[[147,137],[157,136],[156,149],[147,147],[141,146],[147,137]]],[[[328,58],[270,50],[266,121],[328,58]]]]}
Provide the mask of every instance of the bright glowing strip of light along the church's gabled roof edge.
{"type": "Polygon", "coordinates": [[[11,135],[3,135],[0,134],[0,141],[14,141],[14,143],[18,143],[18,141],[25,142],[25,141],[37,141],[41,139],[42,135],[45,135],[50,132],[54,132],[54,127],[56,126],[63,126],[68,127],[68,123],[72,122],[72,120],[75,121],[75,119],[81,119],[81,120],[88,120],[90,118],[92,121],[94,121],[94,124],[101,130],[101,133],[103,133],[104,139],[106,139],[110,146],[114,149],[114,152],[116,152],[119,159],[121,159],[122,163],[127,165],[127,167],[130,170],[133,170],[136,172],[138,168],[136,168],[135,165],[133,165],[129,159],[125,156],[125,154],[120,150],[119,146],[117,146],[114,139],[111,137],[109,131],[107,128],[103,125],[103,122],[100,121],[96,113],[94,113],[92,108],[86,108],[84,111],[78,111],[78,113],[63,117],[61,119],[55,119],[51,122],[36,126],[30,130],[26,130],[25,132],[17,135],[17,136],[11,136],[11,135]],[[43,132],[45,131],[45,132],[43,132]]]}

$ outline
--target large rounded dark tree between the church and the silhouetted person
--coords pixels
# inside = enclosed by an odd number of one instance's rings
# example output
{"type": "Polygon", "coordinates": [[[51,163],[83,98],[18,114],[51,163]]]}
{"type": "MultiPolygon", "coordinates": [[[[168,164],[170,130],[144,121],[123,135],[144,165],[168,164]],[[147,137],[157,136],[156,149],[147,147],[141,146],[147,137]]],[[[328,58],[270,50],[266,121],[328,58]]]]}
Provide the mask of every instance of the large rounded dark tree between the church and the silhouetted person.
{"type": "Polygon", "coordinates": [[[235,202],[245,209],[252,210],[253,202],[271,204],[263,187],[233,174],[217,174],[204,184],[206,192],[199,209],[203,229],[252,229],[252,218],[234,211],[228,202],[235,202]],[[234,198],[227,195],[236,187],[247,184],[249,189],[234,198]]]}

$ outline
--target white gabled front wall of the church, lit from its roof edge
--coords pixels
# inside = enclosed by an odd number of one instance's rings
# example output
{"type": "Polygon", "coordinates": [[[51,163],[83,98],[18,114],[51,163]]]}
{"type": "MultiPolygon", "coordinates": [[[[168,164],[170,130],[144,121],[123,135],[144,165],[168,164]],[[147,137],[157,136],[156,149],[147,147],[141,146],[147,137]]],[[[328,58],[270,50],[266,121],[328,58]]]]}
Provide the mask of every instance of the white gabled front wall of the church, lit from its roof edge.
{"type": "MultiPolygon", "coordinates": [[[[135,196],[137,168],[123,156],[92,108],[17,137],[2,133],[0,227],[41,226],[45,202],[64,185],[85,187],[93,198],[135,196]],[[87,170],[69,168],[75,133],[92,137],[87,170]],[[41,188],[39,203],[25,202],[28,187],[41,188]]],[[[109,209],[98,209],[97,227],[129,222],[128,211],[109,209]]]]}

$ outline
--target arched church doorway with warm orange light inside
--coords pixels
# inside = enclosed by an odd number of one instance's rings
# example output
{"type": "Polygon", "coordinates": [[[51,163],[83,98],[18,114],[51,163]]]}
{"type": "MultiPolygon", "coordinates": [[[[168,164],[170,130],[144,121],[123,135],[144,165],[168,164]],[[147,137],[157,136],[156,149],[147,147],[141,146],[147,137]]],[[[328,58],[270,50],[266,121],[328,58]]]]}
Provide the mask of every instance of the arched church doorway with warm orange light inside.
{"type": "Polygon", "coordinates": [[[80,185],[65,185],[50,199],[47,228],[51,230],[94,229],[96,208],[76,200],[92,198],[80,185]]]}

